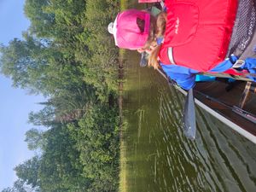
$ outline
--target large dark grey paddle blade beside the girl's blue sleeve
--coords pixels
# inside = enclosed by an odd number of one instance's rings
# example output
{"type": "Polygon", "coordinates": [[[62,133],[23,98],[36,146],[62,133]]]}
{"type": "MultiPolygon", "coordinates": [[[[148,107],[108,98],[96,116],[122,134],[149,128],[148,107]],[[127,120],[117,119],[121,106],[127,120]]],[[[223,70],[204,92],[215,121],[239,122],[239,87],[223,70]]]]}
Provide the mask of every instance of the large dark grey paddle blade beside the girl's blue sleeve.
{"type": "Polygon", "coordinates": [[[186,102],[183,110],[183,131],[186,137],[191,140],[195,139],[195,101],[193,89],[188,91],[186,102]]]}

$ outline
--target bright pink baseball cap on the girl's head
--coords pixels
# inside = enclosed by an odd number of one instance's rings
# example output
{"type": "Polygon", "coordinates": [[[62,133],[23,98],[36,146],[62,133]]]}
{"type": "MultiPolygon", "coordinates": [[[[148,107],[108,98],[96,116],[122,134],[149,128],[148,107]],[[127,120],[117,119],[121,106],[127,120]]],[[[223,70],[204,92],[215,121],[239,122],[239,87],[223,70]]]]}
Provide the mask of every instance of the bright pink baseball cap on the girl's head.
{"type": "Polygon", "coordinates": [[[129,9],[119,13],[113,23],[108,25],[108,32],[113,34],[115,44],[119,48],[142,48],[147,40],[150,30],[150,14],[137,9],[129,9]],[[137,25],[137,19],[144,21],[144,29],[137,25]]]}

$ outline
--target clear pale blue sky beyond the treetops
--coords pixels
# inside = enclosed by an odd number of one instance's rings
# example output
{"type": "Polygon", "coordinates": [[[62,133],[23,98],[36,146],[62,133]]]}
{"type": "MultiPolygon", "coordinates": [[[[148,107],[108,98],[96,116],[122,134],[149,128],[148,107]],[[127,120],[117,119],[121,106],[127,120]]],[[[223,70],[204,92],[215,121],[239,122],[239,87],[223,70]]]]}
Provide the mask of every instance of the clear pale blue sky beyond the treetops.
{"type": "MultiPolygon", "coordinates": [[[[13,38],[21,38],[29,21],[23,14],[25,0],[0,0],[0,43],[8,44],[13,38]]],[[[13,168],[33,153],[26,147],[25,132],[32,128],[27,124],[28,113],[42,108],[42,96],[30,96],[26,90],[11,87],[11,80],[0,74],[0,191],[15,181],[13,168]]]]}

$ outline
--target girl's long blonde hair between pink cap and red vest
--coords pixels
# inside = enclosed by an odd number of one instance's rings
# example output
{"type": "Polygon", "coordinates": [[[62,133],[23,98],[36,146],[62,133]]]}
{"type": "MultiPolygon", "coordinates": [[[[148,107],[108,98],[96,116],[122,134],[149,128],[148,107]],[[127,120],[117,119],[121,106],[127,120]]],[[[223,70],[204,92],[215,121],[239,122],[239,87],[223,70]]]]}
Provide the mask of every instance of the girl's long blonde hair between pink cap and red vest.
{"type": "MultiPolygon", "coordinates": [[[[151,16],[153,18],[153,16],[151,16]]],[[[152,19],[151,19],[152,20],[152,19]]],[[[165,12],[161,12],[157,15],[156,19],[152,21],[154,24],[150,25],[150,33],[148,41],[146,43],[146,48],[153,45],[154,49],[148,55],[148,67],[154,67],[154,69],[159,67],[158,55],[160,52],[161,44],[156,44],[156,38],[163,38],[166,32],[166,20],[167,15],[165,12]]]]}

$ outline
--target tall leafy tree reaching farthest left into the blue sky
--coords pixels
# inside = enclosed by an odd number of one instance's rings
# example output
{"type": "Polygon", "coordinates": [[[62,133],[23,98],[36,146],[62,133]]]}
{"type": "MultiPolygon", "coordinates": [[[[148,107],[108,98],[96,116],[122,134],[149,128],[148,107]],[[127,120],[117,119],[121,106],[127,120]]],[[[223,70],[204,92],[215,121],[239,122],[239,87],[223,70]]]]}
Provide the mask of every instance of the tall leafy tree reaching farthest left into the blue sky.
{"type": "Polygon", "coordinates": [[[2,45],[0,52],[1,72],[13,80],[15,87],[58,96],[62,90],[84,84],[75,61],[28,33],[23,41],[15,38],[9,46],[2,45]]]}

